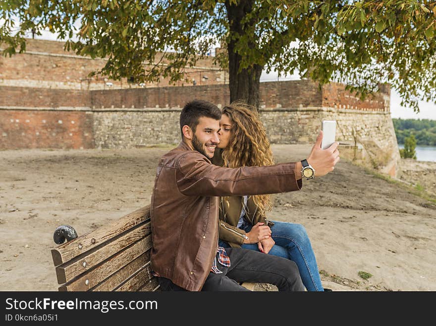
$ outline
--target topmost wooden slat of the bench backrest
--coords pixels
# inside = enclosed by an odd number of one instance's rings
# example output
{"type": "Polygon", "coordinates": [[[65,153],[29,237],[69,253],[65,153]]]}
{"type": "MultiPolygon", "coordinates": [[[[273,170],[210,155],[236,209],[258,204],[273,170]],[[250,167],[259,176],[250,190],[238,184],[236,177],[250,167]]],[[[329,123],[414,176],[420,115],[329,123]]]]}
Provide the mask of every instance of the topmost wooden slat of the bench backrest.
{"type": "Polygon", "coordinates": [[[68,241],[52,250],[54,265],[58,266],[70,261],[148,219],[150,219],[150,205],[141,207],[112,223],[68,241]]]}

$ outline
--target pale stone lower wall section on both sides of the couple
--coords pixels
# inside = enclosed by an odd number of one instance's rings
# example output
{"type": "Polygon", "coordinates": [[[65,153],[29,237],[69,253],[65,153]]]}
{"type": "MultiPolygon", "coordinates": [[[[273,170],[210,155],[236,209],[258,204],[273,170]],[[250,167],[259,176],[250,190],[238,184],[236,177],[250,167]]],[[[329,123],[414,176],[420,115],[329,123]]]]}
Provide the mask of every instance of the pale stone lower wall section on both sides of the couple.
{"type": "MultiPolygon", "coordinates": [[[[181,109],[94,111],[95,146],[131,148],[180,141],[181,109]]],[[[272,143],[313,144],[323,120],[336,120],[341,156],[395,176],[400,160],[390,115],[358,110],[260,110],[272,143]]]]}

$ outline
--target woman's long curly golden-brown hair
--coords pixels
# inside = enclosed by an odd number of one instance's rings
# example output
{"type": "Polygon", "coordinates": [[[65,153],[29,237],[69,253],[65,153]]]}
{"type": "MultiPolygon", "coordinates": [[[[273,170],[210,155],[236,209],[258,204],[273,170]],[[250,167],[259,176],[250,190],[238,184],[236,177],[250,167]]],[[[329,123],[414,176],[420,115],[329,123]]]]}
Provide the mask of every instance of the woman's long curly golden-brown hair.
{"type": "MultiPolygon", "coordinates": [[[[230,168],[273,165],[271,144],[256,110],[243,102],[233,102],[221,110],[232,127],[229,143],[222,158],[230,168]]],[[[270,195],[256,195],[254,202],[264,214],[272,209],[270,195]]]]}

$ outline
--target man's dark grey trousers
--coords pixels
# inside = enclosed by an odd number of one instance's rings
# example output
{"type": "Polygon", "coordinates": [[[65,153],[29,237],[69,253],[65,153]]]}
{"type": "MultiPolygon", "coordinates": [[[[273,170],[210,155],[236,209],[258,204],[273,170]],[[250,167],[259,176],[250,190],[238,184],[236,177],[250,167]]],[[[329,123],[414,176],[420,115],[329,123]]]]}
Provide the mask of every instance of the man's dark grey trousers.
{"type": "MultiPolygon", "coordinates": [[[[304,291],[295,262],[243,248],[226,248],[230,266],[218,263],[221,274],[209,273],[202,291],[249,291],[239,283],[269,283],[279,291],[304,291]]],[[[212,266],[211,266],[212,267],[212,266]]],[[[171,280],[159,277],[163,291],[184,291],[171,280]]]]}

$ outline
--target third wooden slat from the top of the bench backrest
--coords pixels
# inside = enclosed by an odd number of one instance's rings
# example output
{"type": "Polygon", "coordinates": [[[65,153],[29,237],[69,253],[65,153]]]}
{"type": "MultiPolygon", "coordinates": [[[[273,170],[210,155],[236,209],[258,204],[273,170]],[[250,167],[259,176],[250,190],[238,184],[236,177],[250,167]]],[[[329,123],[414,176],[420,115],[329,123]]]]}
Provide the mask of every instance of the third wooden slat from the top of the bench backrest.
{"type": "Polygon", "coordinates": [[[71,270],[67,270],[68,273],[66,273],[64,268],[58,266],[56,267],[56,274],[59,284],[74,281],[68,284],[64,284],[64,286],[59,288],[59,291],[62,290],[73,291],[72,288],[74,288],[77,285],[71,285],[71,284],[80,281],[83,282],[83,284],[85,284],[86,279],[88,279],[89,284],[86,285],[85,289],[83,289],[83,285],[80,286],[80,288],[82,289],[79,291],[89,290],[91,287],[94,287],[100,281],[109,277],[111,274],[113,274],[114,272],[116,272],[126,264],[128,264],[130,261],[133,261],[137,257],[141,256],[143,253],[150,250],[151,247],[152,247],[152,237],[151,235],[148,235],[147,237],[137,241],[132,246],[113,255],[109,260],[104,261],[102,264],[96,266],[93,269],[90,269],[88,273],[80,273],[80,272],[73,273],[71,270]]]}

